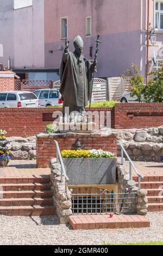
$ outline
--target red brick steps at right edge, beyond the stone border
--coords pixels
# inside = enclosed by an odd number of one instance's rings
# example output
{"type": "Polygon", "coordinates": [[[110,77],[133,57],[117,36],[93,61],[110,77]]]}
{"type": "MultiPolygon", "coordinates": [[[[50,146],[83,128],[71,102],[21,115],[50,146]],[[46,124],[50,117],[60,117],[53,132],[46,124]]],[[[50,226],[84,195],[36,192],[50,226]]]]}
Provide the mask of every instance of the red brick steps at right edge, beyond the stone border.
{"type": "MultiPolygon", "coordinates": [[[[137,177],[133,177],[137,183],[137,177]]],[[[147,190],[148,211],[163,211],[163,176],[145,176],[141,188],[147,190]]]]}

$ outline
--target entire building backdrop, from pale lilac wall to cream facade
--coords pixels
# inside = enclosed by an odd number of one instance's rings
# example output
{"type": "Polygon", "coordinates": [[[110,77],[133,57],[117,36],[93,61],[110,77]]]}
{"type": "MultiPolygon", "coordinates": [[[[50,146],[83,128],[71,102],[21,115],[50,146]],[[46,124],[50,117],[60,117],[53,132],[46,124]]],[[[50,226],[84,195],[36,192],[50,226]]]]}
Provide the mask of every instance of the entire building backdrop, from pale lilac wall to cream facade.
{"type": "Polygon", "coordinates": [[[101,35],[96,77],[120,76],[132,63],[146,76],[147,63],[152,70],[163,60],[163,0],[1,0],[0,5],[0,62],[7,65],[10,56],[11,68],[30,79],[58,80],[65,38],[73,51],[78,34],[89,60],[101,35]],[[157,30],[155,45],[147,44],[149,23],[157,30]]]}

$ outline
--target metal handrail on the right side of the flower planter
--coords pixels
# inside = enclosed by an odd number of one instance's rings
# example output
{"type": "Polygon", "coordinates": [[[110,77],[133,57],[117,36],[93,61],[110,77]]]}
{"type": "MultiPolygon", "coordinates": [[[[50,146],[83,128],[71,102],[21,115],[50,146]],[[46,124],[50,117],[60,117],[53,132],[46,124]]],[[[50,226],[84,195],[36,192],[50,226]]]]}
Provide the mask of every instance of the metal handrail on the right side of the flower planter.
{"type": "Polygon", "coordinates": [[[143,175],[141,175],[141,174],[139,174],[139,172],[137,172],[137,169],[134,166],[134,163],[131,161],[131,159],[130,159],[129,155],[127,154],[126,149],[124,149],[122,143],[120,141],[117,141],[117,143],[121,146],[121,164],[124,163],[123,155],[125,154],[129,161],[129,180],[133,180],[133,176],[132,176],[132,167],[133,167],[133,169],[135,170],[135,173],[138,176],[138,186],[139,186],[139,190],[140,190],[141,189],[141,179],[143,179],[143,175]]]}

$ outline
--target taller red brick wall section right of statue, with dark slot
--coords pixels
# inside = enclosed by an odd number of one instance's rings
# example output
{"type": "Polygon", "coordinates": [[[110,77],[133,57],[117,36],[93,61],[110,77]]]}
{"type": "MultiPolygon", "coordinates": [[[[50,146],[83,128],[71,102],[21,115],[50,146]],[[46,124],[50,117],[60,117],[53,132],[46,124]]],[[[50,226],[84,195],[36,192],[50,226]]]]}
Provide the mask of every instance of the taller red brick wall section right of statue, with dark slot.
{"type": "Polygon", "coordinates": [[[147,128],[163,125],[163,103],[117,103],[115,129],[147,128]]]}

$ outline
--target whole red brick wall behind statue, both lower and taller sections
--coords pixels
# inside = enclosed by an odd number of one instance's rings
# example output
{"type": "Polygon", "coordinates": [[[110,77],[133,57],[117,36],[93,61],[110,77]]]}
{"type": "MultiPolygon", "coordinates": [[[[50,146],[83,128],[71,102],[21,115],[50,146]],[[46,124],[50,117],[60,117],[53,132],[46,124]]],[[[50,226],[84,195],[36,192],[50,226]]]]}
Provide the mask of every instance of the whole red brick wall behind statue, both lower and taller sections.
{"type": "MultiPolygon", "coordinates": [[[[88,110],[88,109],[86,109],[88,110]]],[[[61,108],[0,108],[0,129],[8,136],[33,136],[44,132],[52,123],[52,114],[61,108]]],[[[111,111],[111,127],[115,129],[146,128],[163,125],[163,103],[118,103],[115,108],[92,108],[111,111]]]]}

